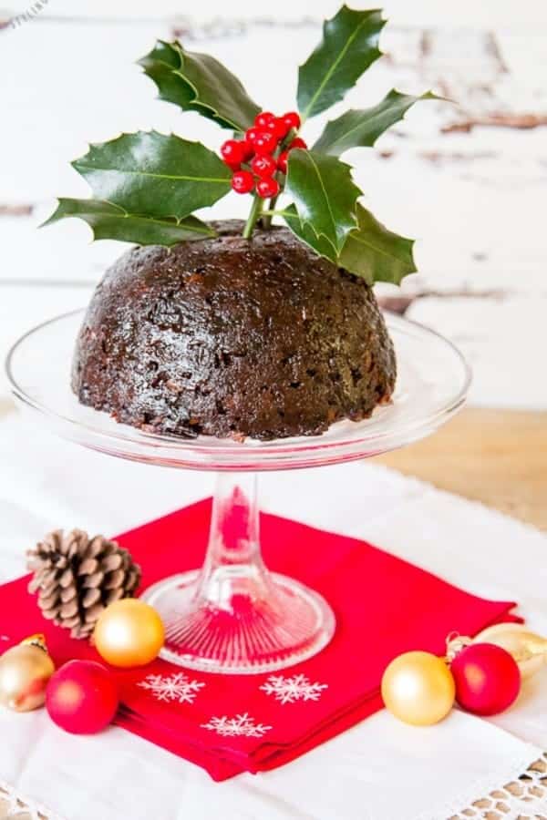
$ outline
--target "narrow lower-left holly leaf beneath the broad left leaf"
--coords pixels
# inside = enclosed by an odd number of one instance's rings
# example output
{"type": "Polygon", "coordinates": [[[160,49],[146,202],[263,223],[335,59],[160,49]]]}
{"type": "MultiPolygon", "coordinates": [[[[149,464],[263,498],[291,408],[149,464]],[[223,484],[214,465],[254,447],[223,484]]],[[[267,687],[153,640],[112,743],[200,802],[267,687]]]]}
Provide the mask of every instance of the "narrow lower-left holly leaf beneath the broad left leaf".
{"type": "Polygon", "coordinates": [[[58,207],[44,225],[79,217],[88,223],[96,240],[113,239],[139,245],[174,245],[215,236],[215,231],[195,217],[184,220],[154,218],[128,213],[104,200],[58,200],[58,207]]]}

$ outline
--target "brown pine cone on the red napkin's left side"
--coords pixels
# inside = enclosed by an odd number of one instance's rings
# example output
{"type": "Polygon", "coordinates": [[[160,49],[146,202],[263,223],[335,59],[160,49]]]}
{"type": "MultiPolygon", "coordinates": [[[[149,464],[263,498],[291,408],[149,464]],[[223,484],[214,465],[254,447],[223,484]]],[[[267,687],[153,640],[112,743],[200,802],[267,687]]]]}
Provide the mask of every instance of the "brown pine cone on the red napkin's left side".
{"type": "Polygon", "coordinates": [[[27,567],[34,572],[28,591],[38,593],[44,618],[73,638],[88,638],[102,610],[132,598],[140,583],[140,567],[127,549],[81,529],[46,535],[28,550],[27,567]]]}

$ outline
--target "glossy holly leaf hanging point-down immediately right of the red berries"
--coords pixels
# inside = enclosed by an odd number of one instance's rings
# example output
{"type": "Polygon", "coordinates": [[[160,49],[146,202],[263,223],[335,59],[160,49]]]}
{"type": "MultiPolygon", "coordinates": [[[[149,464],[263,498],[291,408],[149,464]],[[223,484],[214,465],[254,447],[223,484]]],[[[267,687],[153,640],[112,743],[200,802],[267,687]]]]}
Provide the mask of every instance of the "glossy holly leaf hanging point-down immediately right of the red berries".
{"type": "Polygon", "coordinates": [[[303,228],[325,238],[337,256],[347,234],[356,228],[356,200],[361,195],[349,165],[315,151],[289,154],[286,193],[293,197],[303,228]]]}

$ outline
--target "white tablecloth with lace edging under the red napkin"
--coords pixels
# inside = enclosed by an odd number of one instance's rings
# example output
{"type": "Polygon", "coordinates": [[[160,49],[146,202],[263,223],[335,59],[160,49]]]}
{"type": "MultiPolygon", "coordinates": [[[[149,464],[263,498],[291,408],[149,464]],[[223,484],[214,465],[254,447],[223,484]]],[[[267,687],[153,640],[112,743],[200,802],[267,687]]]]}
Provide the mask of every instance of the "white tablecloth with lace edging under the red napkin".
{"type": "MultiPolygon", "coordinates": [[[[212,488],[209,475],[58,441],[15,411],[0,420],[0,465],[1,580],[23,571],[25,549],[51,528],[115,533],[212,488]]],[[[262,489],[264,509],[367,538],[480,595],[520,601],[547,634],[547,538],[536,530],[372,463],[266,475],[262,489]]],[[[117,728],[82,738],[43,710],[0,712],[0,784],[13,810],[20,798],[61,820],[547,818],[544,749],[547,668],[491,721],[454,711],[416,729],[380,712],[292,764],[223,784],[117,728]]]]}

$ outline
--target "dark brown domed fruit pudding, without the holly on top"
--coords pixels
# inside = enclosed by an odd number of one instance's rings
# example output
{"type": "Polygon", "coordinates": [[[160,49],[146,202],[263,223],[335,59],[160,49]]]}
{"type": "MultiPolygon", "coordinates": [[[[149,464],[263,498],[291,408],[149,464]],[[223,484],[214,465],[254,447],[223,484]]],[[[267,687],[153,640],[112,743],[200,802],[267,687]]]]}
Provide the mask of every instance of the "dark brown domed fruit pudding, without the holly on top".
{"type": "Polygon", "coordinates": [[[176,436],[310,436],[389,400],[393,345],[366,282],[287,229],[129,251],[77,340],[72,386],[119,422],[176,436]]]}

